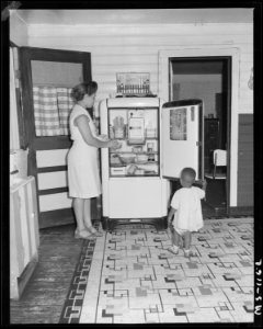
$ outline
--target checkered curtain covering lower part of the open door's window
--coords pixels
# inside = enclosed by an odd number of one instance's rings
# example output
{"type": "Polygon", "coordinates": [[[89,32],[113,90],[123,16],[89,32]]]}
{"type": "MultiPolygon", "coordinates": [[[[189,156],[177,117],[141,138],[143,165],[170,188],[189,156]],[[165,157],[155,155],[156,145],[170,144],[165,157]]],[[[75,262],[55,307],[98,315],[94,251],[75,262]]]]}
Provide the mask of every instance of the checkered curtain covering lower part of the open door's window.
{"type": "Polygon", "coordinates": [[[69,135],[71,89],[33,87],[36,136],[69,135]]]}

